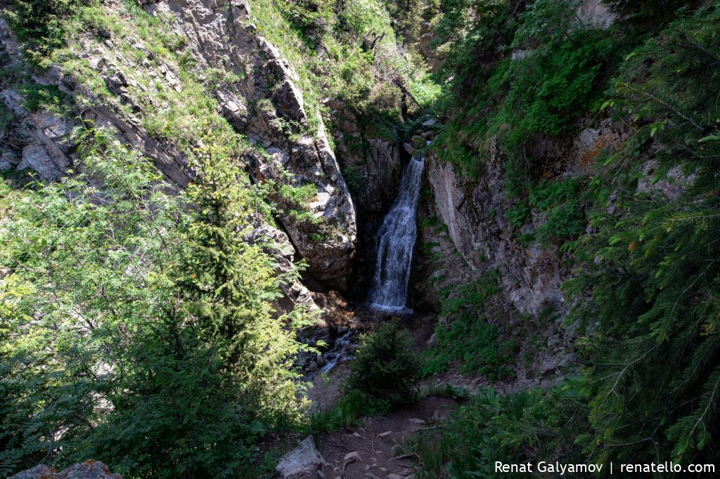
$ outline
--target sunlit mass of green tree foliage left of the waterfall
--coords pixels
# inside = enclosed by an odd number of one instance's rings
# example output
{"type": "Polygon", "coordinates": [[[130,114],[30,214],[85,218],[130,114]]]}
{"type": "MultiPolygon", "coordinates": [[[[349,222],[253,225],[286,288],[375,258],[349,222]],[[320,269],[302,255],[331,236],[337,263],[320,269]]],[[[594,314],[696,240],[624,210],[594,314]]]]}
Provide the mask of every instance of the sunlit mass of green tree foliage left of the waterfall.
{"type": "Polygon", "coordinates": [[[293,320],[256,190],[202,140],[186,191],[102,129],[84,172],[4,187],[0,471],[94,457],[130,477],[235,477],[297,421],[293,320]],[[95,185],[95,186],[89,186],[95,185]]]}

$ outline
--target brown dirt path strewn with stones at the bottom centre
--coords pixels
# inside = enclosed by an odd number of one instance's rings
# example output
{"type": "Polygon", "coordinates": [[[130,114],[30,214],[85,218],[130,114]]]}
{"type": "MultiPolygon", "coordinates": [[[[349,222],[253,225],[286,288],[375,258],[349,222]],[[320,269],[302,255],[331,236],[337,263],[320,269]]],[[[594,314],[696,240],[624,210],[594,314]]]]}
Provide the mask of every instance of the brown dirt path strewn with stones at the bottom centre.
{"type": "Polygon", "coordinates": [[[317,446],[328,462],[322,470],[325,478],[414,478],[415,458],[404,455],[403,446],[419,432],[441,426],[457,406],[449,398],[431,396],[385,416],[365,418],[354,429],[321,434],[317,446]]]}

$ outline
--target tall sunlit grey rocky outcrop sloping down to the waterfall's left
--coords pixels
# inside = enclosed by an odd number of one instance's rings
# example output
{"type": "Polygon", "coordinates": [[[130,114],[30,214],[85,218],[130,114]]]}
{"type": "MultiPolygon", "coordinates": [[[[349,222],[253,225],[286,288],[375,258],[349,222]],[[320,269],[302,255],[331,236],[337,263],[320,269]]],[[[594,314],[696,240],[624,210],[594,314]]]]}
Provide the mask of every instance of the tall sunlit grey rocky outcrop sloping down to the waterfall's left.
{"type": "Polygon", "coordinates": [[[276,45],[258,35],[248,19],[250,5],[210,0],[168,1],[148,6],[178,19],[174,29],[189,39],[189,48],[204,68],[222,65],[245,80],[217,88],[220,111],[267,155],[250,155],[254,181],[312,183],[317,198],[307,205],[315,221],[298,221],[289,208],[280,221],[312,275],[345,288],[356,241],[356,211],[323,119],[310,119],[297,73],[276,45]],[[263,100],[271,100],[269,102],[263,100]],[[248,104],[255,104],[248,109],[248,104]],[[308,128],[317,124],[315,132],[308,128]],[[289,173],[289,177],[287,175],[289,173]]]}

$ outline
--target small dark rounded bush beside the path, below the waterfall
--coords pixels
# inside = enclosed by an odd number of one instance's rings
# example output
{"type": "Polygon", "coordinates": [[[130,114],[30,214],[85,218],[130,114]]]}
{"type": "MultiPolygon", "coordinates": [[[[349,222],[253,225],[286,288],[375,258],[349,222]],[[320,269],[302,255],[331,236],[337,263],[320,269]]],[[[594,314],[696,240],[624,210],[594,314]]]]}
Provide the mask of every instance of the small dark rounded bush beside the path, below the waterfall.
{"type": "Polygon", "coordinates": [[[351,363],[348,387],[391,403],[407,401],[420,378],[420,363],[411,349],[413,338],[397,320],[361,338],[351,363]]]}

